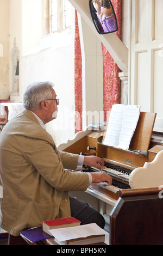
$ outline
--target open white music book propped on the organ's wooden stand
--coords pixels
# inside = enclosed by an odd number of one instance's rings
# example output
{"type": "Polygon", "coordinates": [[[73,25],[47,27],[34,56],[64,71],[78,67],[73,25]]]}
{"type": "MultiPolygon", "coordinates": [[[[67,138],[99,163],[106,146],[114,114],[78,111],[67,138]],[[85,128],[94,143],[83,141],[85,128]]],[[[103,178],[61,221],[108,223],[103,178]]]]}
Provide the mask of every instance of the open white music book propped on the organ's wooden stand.
{"type": "Polygon", "coordinates": [[[128,150],[139,115],[140,106],[138,105],[113,105],[103,143],[128,150]]]}

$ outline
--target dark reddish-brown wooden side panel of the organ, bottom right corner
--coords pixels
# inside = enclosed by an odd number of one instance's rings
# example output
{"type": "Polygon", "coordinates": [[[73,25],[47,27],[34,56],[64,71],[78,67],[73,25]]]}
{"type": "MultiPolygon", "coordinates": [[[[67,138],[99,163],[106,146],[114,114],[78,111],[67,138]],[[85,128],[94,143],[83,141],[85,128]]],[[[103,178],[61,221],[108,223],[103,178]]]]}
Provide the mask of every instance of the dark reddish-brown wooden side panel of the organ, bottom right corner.
{"type": "Polygon", "coordinates": [[[163,204],[159,192],[141,191],[118,199],[110,214],[110,245],[163,244],[163,204]]]}

